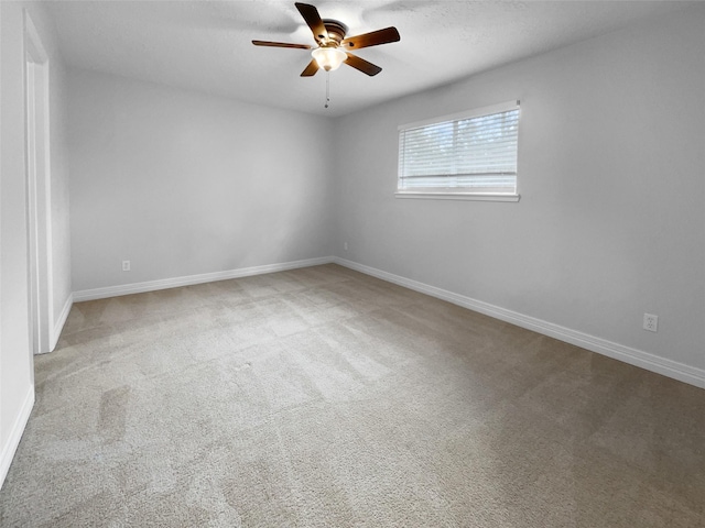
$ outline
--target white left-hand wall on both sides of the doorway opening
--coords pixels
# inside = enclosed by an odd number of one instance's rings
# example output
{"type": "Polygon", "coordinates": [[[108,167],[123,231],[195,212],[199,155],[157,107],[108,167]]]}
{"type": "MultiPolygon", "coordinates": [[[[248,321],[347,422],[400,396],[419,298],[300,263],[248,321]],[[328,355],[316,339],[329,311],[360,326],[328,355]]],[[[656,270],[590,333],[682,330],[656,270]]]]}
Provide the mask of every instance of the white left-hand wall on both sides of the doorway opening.
{"type": "MultiPolygon", "coordinates": [[[[54,289],[56,306],[70,296],[63,66],[52,23],[41,6],[0,2],[0,484],[33,403],[29,317],[24,119],[24,10],[50,56],[50,124],[54,289]]],[[[61,308],[55,315],[61,314],[61,308]]],[[[50,321],[54,327],[56,320],[50,321]]]]}

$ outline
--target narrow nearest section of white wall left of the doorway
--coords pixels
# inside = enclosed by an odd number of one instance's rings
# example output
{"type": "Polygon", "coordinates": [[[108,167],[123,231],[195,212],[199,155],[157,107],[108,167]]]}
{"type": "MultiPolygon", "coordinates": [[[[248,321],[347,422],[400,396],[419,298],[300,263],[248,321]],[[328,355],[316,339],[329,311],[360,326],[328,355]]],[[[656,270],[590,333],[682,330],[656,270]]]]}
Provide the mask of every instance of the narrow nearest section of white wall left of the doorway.
{"type": "MultiPolygon", "coordinates": [[[[0,462],[3,465],[9,465],[7,460],[17,448],[11,437],[17,435],[18,419],[26,414],[28,398],[33,397],[26,287],[22,16],[19,6],[0,3],[0,462]]],[[[4,479],[4,472],[0,479],[4,479]]]]}

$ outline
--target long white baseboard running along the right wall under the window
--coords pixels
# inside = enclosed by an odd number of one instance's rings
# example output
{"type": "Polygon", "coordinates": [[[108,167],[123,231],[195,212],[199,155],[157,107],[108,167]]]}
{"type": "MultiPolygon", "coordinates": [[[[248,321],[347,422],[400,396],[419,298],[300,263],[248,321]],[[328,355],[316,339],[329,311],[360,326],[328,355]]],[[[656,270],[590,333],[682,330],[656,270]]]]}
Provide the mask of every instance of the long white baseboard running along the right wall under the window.
{"type": "Polygon", "coordinates": [[[705,370],[668,360],[665,358],[660,358],[642,350],[625,346],[622,344],[607,341],[595,336],[589,336],[577,330],[561,327],[558,324],[508,310],[499,306],[490,305],[481,300],[476,300],[464,295],[455,294],[442,288],[436,288],[435,286],[430,286],[427,284],[401,277],[392,273],[382,272],[381,270],[366,266],[364,264],[358,264],[352,261],[334,257],[333,262],[341,266],[349,267],[350,270],[365,273],[366,275],[371,275],[373,277],[381,278],[382,280],[398,284],[409,289],[413,289],[415,292],[420,292],[438,299],[447,300],[448,302],[453,302],[464,308],[479,311],[480,314],[485,314],[496,319],[517,324],[518,327],[522,327],[528,330],[533,330],[534,332],[555,338],[560,341],[575,344],[576,346],[581,346],[592,352],[607,355],[615,360],[623,361],[625,363],[629,363],[631,365],[636,365],[641,369],[646,369],[648,371],[655,372],[658,374],[662,374],[664,376],[672,377],[684,383],[688,383],[691,385],[695,385],[696,387],[705,388],[705,370]]]}

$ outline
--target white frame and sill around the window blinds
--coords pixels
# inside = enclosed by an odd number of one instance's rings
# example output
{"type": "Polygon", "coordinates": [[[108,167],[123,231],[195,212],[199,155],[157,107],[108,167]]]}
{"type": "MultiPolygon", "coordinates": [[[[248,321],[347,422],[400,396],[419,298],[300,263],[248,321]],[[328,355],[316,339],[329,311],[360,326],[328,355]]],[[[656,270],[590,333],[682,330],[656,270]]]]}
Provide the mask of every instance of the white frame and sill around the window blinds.
{"type": "MultiPolygon", "coordinates": [[[[408,130],[419,129],[423,127],[429,127],[432,124],[440,123],[451,123],[463,121],[471,118],[478,118],[482,116],[491,116],[494,113],[507,112],[510,110],[519,110],[520,103],[519,101],[509,101],[499,105],[492,105],[489,107],[476,108],[473,110],[468,110],[465,112],[453,113],[449,116],[443,116],[438,118],[432,118],[423,121],[416,121],[413,123],[402,124],[398,128],[399,130],[399,155],[401,157],[403,142],[402,142],[402,133],[408,130]]],[[[518,132],[519,133],[519,132],[518,132]]],[[[519,156],[519,148],[517,148],[517,157],[519,156]]],[[[519,201],[519,178],[517,176],[517,184],[514,186],[513,193],[482,193],[477,190],[470,190],[469,187],[460,187],[458,190],[449,190],[447,188],[437,187],[423,190],[408,190],[400,188],[400,184],[402,180],[402,163],[401,160],[399,162],[399,173],[397,178],[397,191],[394,196],[397,198],[421,198],[421,199],[435,199],[435,200],[480,200],[480,201],[519,201]]]]}

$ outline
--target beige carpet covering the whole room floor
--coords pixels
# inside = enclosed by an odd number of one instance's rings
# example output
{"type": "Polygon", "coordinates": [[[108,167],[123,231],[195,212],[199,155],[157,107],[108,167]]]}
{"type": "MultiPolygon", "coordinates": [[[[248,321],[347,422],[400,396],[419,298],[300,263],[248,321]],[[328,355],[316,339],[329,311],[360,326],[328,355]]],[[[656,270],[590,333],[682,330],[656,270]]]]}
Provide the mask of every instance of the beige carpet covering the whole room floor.
{"type": "Polygon", "coordinates": [[[336,265],[76,304],[3,527],[703,527],[705,391],[336,265]]]}

